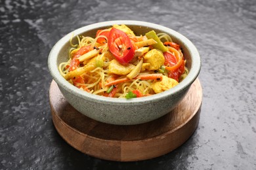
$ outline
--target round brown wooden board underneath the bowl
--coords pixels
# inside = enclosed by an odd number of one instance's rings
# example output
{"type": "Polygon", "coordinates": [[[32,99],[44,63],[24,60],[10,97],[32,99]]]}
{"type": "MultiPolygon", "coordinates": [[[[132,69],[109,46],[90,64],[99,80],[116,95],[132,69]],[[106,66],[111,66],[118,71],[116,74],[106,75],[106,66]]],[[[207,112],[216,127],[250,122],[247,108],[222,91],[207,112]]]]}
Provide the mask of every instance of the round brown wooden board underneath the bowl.
{"type": "Polygon", "coordinates": [[[53,124],[71,146],[104,160],[138,161],[167,154],[194,133],[200,119],[202,87],[196,79],[169,114],[133,126],[104,124],[81,114],[66,101],[54,80],[49,97],[53,124]]]}

